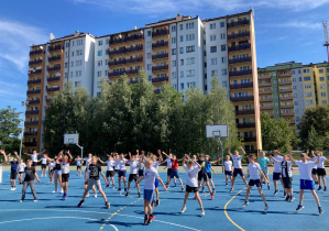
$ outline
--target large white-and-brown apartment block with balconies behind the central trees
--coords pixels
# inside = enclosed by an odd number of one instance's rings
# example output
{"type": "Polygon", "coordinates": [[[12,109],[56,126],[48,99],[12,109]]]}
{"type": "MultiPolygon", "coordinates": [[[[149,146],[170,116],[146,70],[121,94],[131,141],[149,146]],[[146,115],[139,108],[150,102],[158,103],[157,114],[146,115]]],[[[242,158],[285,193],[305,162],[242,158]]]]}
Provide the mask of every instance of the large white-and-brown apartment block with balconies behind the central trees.
{"type": "MultiPolygon", "coordinates": [[[[39,75],[32,75],[40,80],[31,84],[29,90],[39,87],[40,92],[28,92],[28,99],[29,96],[41,99],[35,105],[42,110],[39,121],[43,120],[52,96],[68,81],[74,88],[85,87],[90,96],[99,97],[101,77],[111,84],[125,74],[130,82],[135,84],[139,70],[144,69],[155,94],[168,84],[185,98],[188,88],[199,87],[205,94],[210,92],[211,79],[217,76],[234,105],[239,138],[243,139],[245,150],[262,148],[252,10],[207,20],[178,14],[103,36],[77,32],[33,46],[31,52],[35,53],[31,54],[31,62],[39,58],[31,67],[40,68],[39,75]]],[[[32,106],[29,109],[32,110],[32,106]]],[[[39,129],[25,129],[42,133],[42,124],[37,122],[37,125],[39,129]]],[[[33,138],[35,145],[31,144],[28,150],[42,148],[41,135],[33,138]]]]}

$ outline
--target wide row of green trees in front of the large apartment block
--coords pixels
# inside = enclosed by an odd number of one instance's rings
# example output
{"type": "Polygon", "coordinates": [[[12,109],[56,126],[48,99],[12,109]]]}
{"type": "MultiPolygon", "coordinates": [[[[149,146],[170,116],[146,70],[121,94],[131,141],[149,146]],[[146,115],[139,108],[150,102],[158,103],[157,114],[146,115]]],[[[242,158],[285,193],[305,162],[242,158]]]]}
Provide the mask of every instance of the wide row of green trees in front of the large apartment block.
{"type": "MultiPolygon", "coordinates": [[[[99,98],[90,98],[84,88],[73,91],[70,85],[53,98],[44,120],[44,141],[51,153],[63,148],[64,133],[78,132],[85,152],[105,155],[109,152],[158,148],[183,155],[187,152],[217,153],[218,141],[206,138],[207,124],[229,124],[229,143],[237,146],[238,130],[232,103],[226,88],[213,78],[211,92],[186,90],[183,95],[169,85],[154,94],[154,86],[140,70],[139,82],[127,76],[107,84],[102,78],[99,98]]],[[[79,152],[76,147],[72,147],[79,152]]]]}

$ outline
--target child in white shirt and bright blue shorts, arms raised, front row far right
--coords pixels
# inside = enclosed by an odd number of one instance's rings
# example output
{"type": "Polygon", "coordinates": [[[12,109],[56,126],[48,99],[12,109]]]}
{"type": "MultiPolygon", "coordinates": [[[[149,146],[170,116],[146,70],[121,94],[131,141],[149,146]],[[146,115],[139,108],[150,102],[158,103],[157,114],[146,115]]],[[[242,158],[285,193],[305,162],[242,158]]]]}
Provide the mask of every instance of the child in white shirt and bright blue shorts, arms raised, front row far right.
{"type": "Polygon", "coordinates": [[[295,161],[292,155],[289,155],[289,158],[294,164],[298,166],[299,169],[299,179],[300,179],[299,205],[296,208],[296,210],[299,211],[300,209],[304,208],[303,206],[304,190],[307,189],[311,191],[314,198],[316,199],[319,213],[322,213],[323,210],[321,208],[320,200],[315,190],[315,185],[311,178],[311,169],[314,168],[315,165],[320,163],[320,158],[318,158],[316,162],[308,161],[308,157],[305,153],[301,153],[300,161],[295,161]]]}

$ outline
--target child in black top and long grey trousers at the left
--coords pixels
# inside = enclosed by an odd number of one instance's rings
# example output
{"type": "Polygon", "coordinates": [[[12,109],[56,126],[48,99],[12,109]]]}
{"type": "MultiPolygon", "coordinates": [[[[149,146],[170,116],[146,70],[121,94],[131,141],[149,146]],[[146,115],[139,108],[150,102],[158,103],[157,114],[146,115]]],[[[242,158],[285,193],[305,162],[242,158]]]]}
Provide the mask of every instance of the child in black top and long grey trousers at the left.
{"type": "Polygon", "coordinates": [[[25,193],[26,193],[26,189],[29,186],[30,186],[33,197],[34,197],[33,202],[37,201],[37,197],[36,197],[36,193],[35,193],[35,183],[34,183],[35,179],[40,183],[35,167],[32,166],[32,161],[29,160],[28,167],[25,167],[25,177],[24,177],[23,189],[22,189],[22,199],[20,200],[20,202],[24,201],[25,193]]]}

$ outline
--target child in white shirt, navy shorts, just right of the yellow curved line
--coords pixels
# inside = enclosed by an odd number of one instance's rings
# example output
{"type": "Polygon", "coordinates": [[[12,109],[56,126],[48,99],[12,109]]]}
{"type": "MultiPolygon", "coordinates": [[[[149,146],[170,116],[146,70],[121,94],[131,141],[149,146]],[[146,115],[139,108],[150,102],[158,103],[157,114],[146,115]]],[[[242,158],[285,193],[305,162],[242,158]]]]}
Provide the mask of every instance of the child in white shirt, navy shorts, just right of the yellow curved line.
{"type": "Polygon", "coordinates": [[[241,207],[245,207],[249,205],[249,196],[250,196],[250,191],[251,191],[251,188],[255,185],[259,189],[259,193],[263,199],[263,202],[264,202],[264,212],[267,212],[268,210],[268,206],[267,206],[267,202],[266,202],[266,199],[265,199],[265,196],[263,194],[263,190],[262,190],[262,184],[261,184],[261,180],[260,180],[260,176],[259,176],[259,173],[261,175],[263,175],[263,177],[265,178],[265,180],[267,182],[267,184],[270,184],[268,179],[265,177],[264,173],[262,172],[262,168],[261,166],[259,165],[259,163],[255,163],[256,161],[256,156],[255,155],[250,155],[249,156],[249,164],[248,164],[248,175],[250,176],[250,179],[249,179],[249,184],[248,184],[248,188],[246,188],[246,194],[245,194],[245,201],[244,204],[241,206],[241,207]]]}

